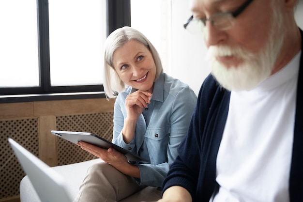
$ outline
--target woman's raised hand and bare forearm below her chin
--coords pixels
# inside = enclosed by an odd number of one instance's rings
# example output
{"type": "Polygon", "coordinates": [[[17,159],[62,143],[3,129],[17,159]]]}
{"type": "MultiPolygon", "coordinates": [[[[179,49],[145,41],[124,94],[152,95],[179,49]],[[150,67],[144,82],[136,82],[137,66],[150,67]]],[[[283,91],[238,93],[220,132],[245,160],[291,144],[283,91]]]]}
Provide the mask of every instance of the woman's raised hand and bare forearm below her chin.
{"type": "Polygon", "coordinates": [[[124,119],[122,129],[123,140],[126,143],[134,139],[138,118],[143,112],[143,109],[148,108],[148,104],[151,103],[151,97],[152,93],[147,91],[136,91],[127,95],[125,99],[127,116],[124,119]]]}

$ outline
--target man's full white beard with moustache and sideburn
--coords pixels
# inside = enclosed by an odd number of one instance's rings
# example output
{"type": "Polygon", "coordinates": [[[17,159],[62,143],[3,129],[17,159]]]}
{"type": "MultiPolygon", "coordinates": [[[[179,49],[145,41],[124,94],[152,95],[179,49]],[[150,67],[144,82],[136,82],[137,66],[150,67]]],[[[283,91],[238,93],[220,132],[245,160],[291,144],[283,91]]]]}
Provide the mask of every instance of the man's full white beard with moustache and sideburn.
{"type": "Polygon", "coordinates": [[[243,47],[211,46],[209,48],[212,75],[224,88],[230,91],[249,91],[271,75],[285,38],[280,18],[279,12],[274,9],[273,26],[268,42],[258,53],[252,53],[243,47]],[[242,62],[238,66],[227,68],[216,60],[218,56],[235,56],[242,62]]]}

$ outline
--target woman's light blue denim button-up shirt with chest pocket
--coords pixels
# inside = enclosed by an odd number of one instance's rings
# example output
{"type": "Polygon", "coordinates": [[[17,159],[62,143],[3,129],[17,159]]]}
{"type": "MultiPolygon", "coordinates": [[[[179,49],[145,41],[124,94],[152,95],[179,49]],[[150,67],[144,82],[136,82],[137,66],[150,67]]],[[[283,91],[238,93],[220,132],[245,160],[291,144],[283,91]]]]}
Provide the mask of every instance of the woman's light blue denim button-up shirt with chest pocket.
{"type": "Polygon", "coordinates": [[[154,83],[148,110],[143,110],[137,121],[135,138],[126,144],[121,131],[127,116],[125,98],[131,91],[128,87],[116,98],[112,142],[150,161],[150,164],[137,164],[139,185],[161,187],[178,155],[177,147],[187,132],[197,96],[187,84],[161,74],[154,83]]]}

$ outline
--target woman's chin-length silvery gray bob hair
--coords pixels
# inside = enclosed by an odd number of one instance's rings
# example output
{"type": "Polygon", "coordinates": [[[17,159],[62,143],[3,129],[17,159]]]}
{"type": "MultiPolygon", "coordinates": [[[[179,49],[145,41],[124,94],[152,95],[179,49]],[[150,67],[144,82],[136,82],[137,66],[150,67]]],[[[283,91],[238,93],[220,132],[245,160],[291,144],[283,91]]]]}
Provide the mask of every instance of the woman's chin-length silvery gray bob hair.
{"type": "Polygon", "coordinates": [[[156,65],[156,77],[163,73],[163,67],[158,51],[152,43],[140,32],[131,27],[122,27],[113,31],[106,39],[104,49],[104,91],[107,98],[114,98],[118,93],[123,92],[126,88],[124,82],[119,78],[113,67],[113,54],[115,50],[123,47],[127,42],[135,40],[146,46],[152,53],[152,58],[156,65]]]}

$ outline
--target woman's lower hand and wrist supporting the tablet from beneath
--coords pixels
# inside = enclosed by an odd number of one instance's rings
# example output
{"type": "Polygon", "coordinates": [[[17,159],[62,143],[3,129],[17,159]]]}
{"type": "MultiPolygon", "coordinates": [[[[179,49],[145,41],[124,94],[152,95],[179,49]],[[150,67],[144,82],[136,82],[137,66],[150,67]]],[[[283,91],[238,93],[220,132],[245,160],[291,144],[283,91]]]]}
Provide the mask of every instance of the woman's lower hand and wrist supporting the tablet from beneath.
{"type": "Polygon", "coordinates": [[[78,142],[77,145],[92,155],[101,158],[104,162],[113,166],[118,171],[132,177],[140,178],[139,168],[136,165],[128,163],[126,156],[116,151],[114,148],[106,150],[83,141],[78,142]]]}

